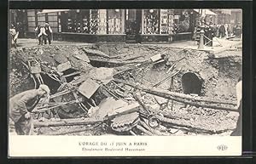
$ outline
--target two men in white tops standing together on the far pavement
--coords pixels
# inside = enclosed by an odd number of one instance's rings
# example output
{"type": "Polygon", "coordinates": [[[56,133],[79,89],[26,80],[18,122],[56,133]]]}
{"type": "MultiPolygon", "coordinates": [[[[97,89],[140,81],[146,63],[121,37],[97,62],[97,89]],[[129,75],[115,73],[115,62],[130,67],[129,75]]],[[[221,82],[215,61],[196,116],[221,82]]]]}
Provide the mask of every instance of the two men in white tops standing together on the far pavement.
{"type": "Polygon", "coordinates": [[[44,26],[38,25],[35,29],[36,31],[36,37],[38,38],[38,45],[43,45],[48,43],[51,43],[52,40],[52,30],[49,26],[49,23],[45,23],[44,26]]]}

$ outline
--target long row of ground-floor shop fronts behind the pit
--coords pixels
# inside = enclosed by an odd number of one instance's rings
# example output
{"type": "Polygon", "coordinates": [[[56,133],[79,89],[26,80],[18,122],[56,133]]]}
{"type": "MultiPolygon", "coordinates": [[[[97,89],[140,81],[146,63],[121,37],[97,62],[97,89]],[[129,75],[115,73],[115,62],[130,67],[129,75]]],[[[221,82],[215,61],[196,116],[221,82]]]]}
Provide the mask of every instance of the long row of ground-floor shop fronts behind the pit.
{"type": "Polygon", "coordinates": [[[22,33],[26,37],[35,37],[36,26],[49,22],[55,40],[76,42],[190,40],[198,16],[193,9],[26,9],[23,12],[22,33]]]}

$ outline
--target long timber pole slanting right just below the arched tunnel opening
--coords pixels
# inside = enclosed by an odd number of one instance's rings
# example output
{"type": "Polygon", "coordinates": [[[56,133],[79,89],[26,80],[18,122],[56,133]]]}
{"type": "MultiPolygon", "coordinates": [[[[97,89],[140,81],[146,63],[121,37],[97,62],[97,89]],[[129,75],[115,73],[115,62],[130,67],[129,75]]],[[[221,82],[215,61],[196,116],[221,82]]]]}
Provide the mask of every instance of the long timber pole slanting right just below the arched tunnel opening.
{"type": "Polygon", "coordinates": [[[236,102],[232,102],[232,101],[224,101],[222,99],[210,99],[210,98],[204,98],[204,97],[200,97],[200,96],[191,96],[189,94],[184,94],[184,93],[175,93],[175,92],[171,92],[165,89],[160,89],[160,88],[153,88],[153,87],[146,87],[143,85],[136,85],[134,83],[128,83],[128,82],[124,82],[122,80],[117,80],[114,79],[115,82],[121,82],[124,83],[126,85],[129,85],[133,88],[137,88],[142,90],[143,92],[146,93],[150,93],[150,94],[154,94],[166,99],[172,99],[175,100],[177,102],[181,102],[187,105],[194,105],[194,106],[201,106],[203,108],[212,108],[212,109],[216,109],[216,110],[228,110],[228,111],[237,111],[236,107],[236,102]],[[212,104],[207,104],[207,103],[212,103],[212,104]],[[225,107],[225,106],[221,106],[221,104],[223,105],[233,105],[233,107],[225,107]]]}

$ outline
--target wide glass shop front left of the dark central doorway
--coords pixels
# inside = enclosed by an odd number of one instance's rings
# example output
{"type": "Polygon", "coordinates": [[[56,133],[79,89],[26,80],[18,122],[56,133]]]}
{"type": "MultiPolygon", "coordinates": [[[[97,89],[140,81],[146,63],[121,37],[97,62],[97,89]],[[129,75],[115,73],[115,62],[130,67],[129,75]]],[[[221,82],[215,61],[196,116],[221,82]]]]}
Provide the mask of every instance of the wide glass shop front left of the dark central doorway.
{"type": "Polygon", "coordinates": [[[124,9],[61,12],[61,37],[78,42],[125,42],[124,9]]]}

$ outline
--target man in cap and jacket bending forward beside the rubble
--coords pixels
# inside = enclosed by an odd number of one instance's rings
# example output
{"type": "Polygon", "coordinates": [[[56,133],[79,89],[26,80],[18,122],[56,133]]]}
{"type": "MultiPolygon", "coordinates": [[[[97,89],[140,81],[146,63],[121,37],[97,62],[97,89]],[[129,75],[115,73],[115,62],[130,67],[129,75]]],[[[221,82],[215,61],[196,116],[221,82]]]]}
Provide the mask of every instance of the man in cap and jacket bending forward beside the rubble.
{"type": "Polygon", "coordinates": [[[47,85],[38,89],[27,90],[9,99],[9,117],[15,122],[15,132],[18,135],[32,135],[33,122],[30,112],[38,105],[41,98],[49,97],[47,85]]]}

